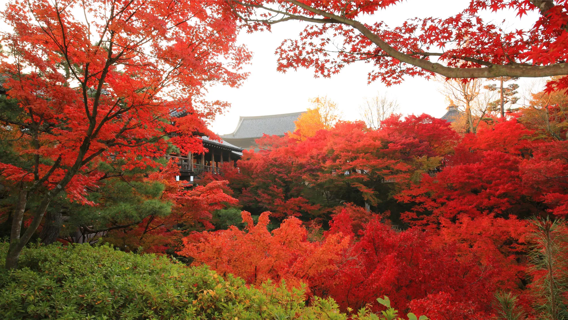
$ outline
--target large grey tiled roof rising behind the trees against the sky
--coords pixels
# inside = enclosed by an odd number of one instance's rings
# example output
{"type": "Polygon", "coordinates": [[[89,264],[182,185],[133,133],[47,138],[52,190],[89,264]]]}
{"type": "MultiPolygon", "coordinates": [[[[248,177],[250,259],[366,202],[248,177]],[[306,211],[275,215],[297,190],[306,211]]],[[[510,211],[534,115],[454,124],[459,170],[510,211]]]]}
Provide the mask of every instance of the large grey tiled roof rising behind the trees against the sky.
{"type": "Polygon", "coordinates": [[[295,131],[295,120],[303,112],[261,115],[258,117],[240,117],[239,124],[232,134],[222,135],[223,139],[260,138],[263,134],[283,136],[288,131],[295,131]]]}

